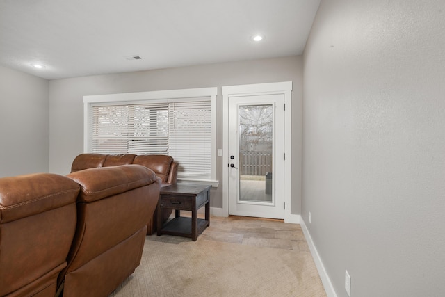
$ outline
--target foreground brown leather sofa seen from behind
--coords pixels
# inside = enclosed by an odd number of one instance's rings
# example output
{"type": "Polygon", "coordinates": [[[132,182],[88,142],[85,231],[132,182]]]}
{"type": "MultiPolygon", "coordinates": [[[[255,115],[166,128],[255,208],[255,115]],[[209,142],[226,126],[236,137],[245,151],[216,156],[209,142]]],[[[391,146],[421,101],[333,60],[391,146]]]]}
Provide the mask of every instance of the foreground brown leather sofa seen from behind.
{"type": "Polygon", "coordinates": [[[140,264],[161,179],[145,166],[0,179],[0,296],[108,296],[140,264]]]}

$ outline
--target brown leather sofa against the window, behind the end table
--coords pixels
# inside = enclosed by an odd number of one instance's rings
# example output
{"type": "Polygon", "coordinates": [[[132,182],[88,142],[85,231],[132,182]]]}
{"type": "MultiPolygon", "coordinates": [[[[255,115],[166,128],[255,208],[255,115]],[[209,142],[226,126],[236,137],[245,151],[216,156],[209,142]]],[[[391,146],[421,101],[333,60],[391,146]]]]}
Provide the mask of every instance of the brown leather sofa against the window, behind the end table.
{"type": "MultiPolygon", "coordinates": [[[[124,164],[138,164],[145,166],[161,178],[161,186],[176,184],[178,174],[178,163],[172,158],[163,154],[79,154],[72,162],[71,172],[84,170],[87,168],[109,167],[124,164]]],[[[172,209],[163,209],[163,222],[168,220],[172,214],[172,209]]],[[[156,232],[157,211],[147,222],[147,234],[156,232]]]]}

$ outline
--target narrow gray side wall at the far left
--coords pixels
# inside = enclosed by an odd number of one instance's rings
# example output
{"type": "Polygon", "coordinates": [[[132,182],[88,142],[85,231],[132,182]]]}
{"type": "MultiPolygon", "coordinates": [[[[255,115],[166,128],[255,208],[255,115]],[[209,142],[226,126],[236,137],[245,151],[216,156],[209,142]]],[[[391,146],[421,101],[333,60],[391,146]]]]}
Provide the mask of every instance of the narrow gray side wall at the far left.
{"type": "Polygon", "coordinates": [[[49,81],[0,66],[0,177],[48,172],[49,81]]]}

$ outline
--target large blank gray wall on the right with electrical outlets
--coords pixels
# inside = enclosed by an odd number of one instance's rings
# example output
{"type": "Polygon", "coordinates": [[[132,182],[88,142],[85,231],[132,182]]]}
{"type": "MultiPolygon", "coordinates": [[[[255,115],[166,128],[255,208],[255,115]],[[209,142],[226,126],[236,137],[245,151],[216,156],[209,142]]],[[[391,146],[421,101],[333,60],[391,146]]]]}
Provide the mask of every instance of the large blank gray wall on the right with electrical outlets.
{"type": "Polygon", "coordinates": [[[444,296],[444,49],[443,0],[321,1],[302,216],[338,296],[444,296]]]}

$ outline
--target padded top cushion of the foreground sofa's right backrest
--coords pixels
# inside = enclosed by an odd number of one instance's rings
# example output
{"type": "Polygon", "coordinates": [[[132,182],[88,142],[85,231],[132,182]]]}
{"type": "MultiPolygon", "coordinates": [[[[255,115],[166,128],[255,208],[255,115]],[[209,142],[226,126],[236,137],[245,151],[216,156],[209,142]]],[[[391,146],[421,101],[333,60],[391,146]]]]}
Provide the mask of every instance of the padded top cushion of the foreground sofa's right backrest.
{"type": "Polygon", "coordinates": [[[90,168],[72,172],[67,177],[81,185],[79,202],[92,202],[124,193],[133,188],[152,184],[157,179],[152,170],[140,165],[90,168]]]}

